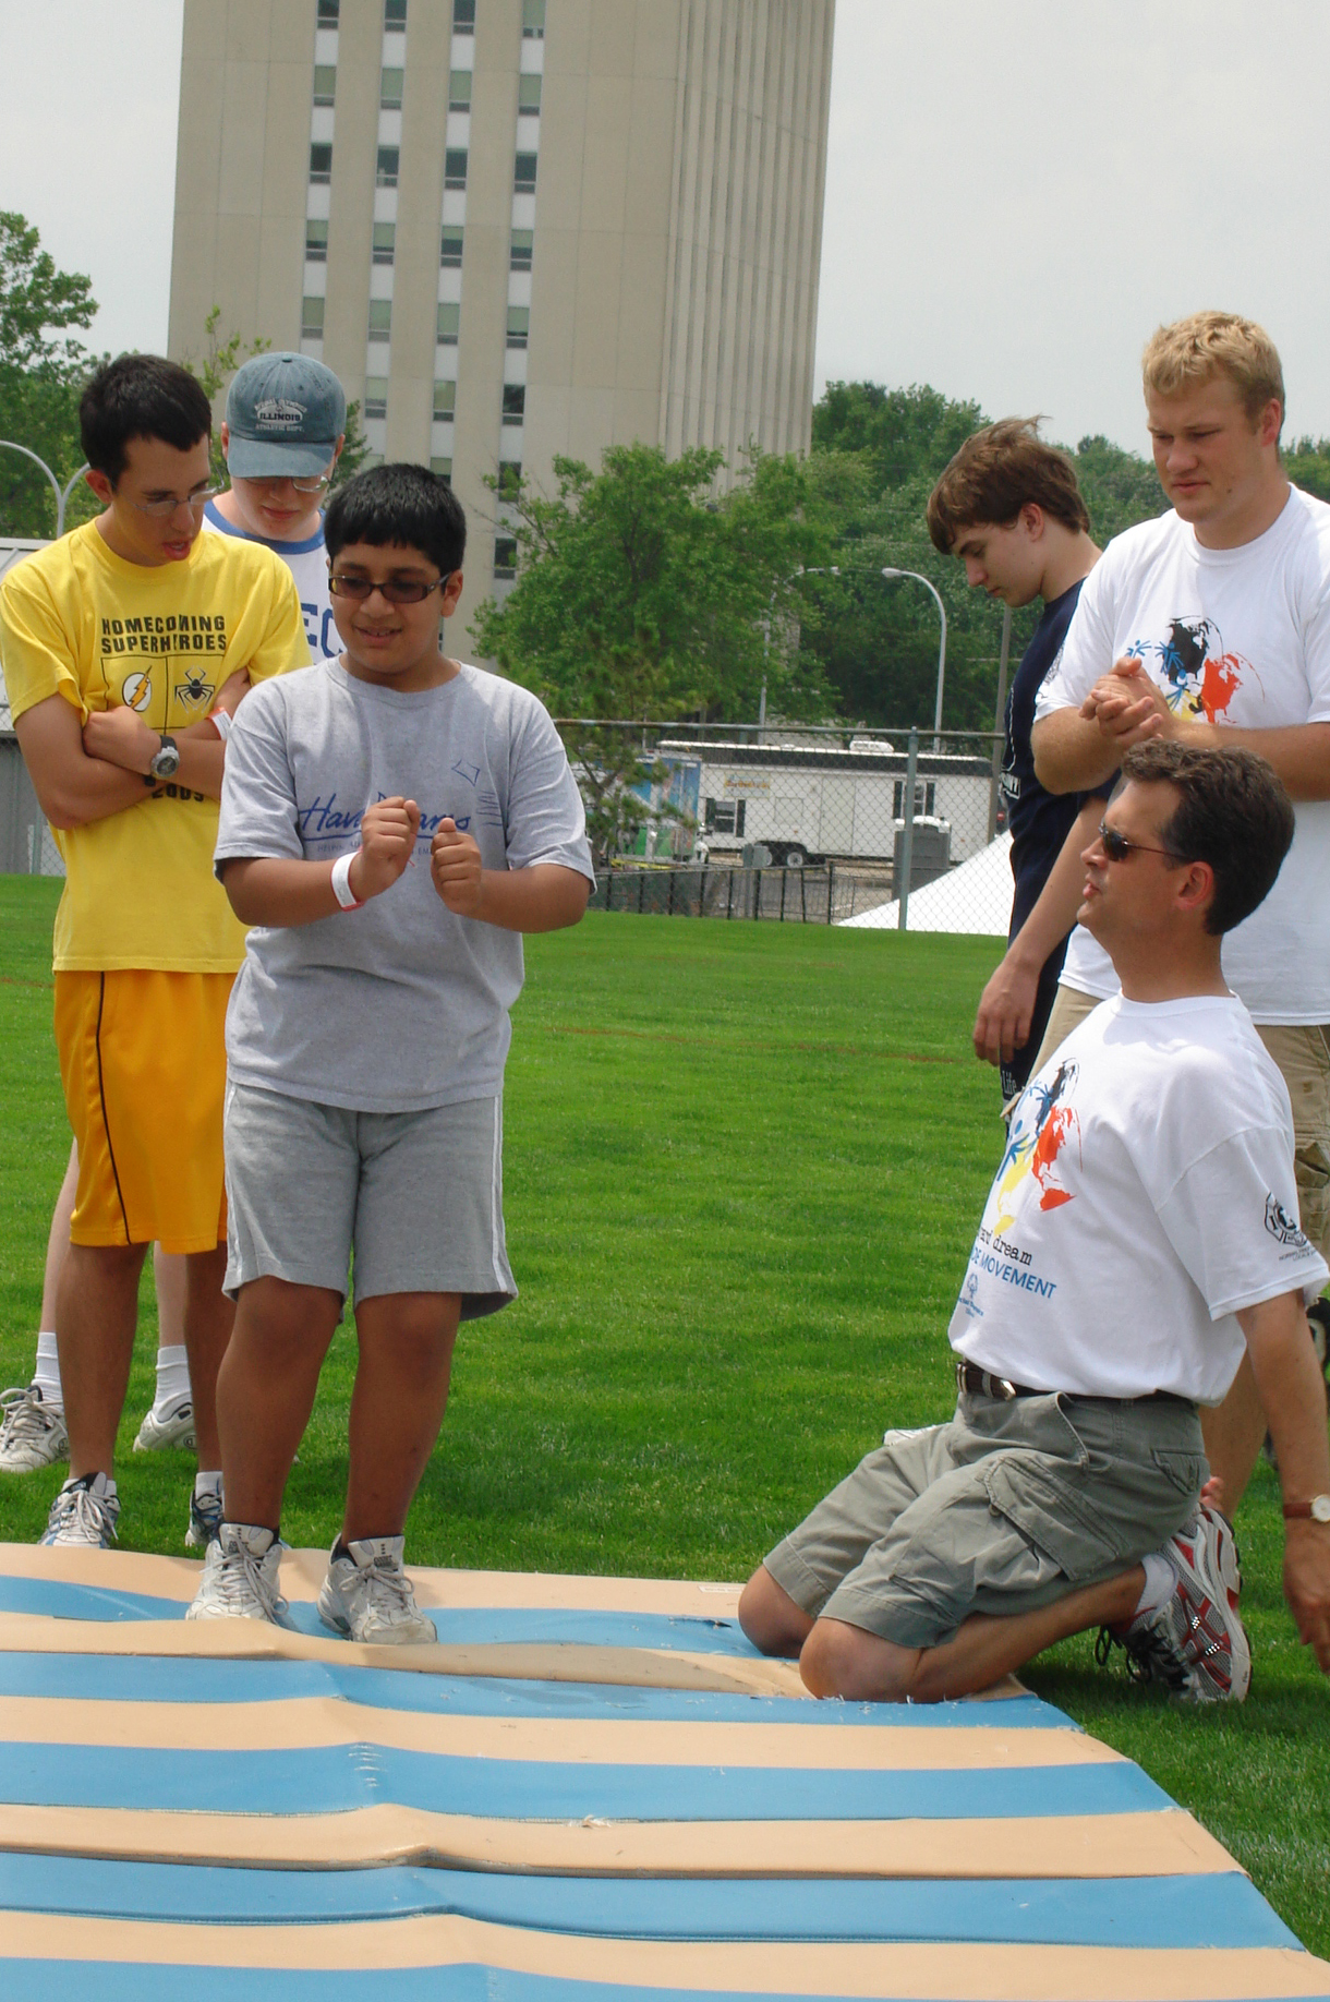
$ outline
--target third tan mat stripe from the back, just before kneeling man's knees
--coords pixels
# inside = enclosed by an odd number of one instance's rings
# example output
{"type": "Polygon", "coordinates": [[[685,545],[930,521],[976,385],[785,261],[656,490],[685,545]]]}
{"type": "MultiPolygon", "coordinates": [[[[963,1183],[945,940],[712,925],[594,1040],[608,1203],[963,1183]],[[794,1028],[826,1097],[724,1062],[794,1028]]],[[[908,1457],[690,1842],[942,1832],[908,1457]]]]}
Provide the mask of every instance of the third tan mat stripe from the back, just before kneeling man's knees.
{"type": "Polygon", "coordinates": [[[1006,1772],[1128,1764],[1120,1752],[1078,1730],[425,1716],[371,1710],[339,1696],[262,1704],[10,1696],[0,1710],[0,1742],[150,1746],[160,1752],[294,1752],[375,1744],[395,1752],[561,1766],[741,1766],[777,1772],[1006,1772]]]}

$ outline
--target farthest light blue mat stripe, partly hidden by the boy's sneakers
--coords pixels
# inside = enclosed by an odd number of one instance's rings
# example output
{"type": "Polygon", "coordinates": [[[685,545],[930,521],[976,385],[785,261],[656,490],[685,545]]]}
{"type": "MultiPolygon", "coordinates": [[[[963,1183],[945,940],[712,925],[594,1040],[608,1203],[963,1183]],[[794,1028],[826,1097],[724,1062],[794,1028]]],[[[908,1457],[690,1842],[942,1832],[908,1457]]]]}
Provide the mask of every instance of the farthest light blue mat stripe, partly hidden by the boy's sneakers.
{"type": "MultiPolygon", "coordinates": [[[[0,1574],[0,1612],[46,1614],[52,1620],[184,1620],[184,1600],[154,1598],[146,1592],[104,1592],[98,1586],[66,1586],[50,1578],[6,1578],[0,1574]]],[[[737,1620],[691,1620],[675,1614],[599,1614],[577,1610],[481,1606],[431,1610],[441,1642],[485,1648],[495,1644],[577,1644],[583,1648],[655,1648],[667,1654],[723,1654],[759,1662],[757,1648],[737,1620]]],[[[292,1602],[286,1624],[298,1634],[332,1630],[322,1624],[310,1600],[292,1602]]]]}

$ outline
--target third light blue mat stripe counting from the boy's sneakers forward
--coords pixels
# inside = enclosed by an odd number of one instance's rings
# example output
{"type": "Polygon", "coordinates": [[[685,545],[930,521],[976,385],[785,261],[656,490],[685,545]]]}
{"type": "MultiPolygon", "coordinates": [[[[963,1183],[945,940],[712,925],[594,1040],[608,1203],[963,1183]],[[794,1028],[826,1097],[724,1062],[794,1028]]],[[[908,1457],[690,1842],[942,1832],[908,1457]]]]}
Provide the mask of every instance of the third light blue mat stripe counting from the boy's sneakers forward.
{"type": "MultiPolygon", "coordinates": [[[[2,1720],[0,1720],[2,1728],[2,1720]]],[[[391,1746],[158,1752],[0,1744],[0,1800],[192,1814],[339,1814],[391,1802],[433,1814],[567,1822],[991,1820],[1140,1814],[1172,1806],[1128,1760],[1112,1766],[819,1772],[557,1764],[391,1746]]]]}

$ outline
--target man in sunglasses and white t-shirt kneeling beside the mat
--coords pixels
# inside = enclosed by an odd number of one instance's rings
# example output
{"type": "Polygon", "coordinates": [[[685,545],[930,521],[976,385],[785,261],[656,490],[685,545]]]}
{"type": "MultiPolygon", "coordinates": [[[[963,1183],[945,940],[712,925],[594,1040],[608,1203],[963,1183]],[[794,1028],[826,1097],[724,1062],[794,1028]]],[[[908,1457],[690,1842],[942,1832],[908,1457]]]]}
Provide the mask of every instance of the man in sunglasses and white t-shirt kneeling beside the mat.
{"type": "Polygon", "coordinates": [[[1220,971],[1294,817],[1244,749],[1142,743],[1086,849],[1080,921],[1122,993],[1026,1085],[949,1339],[957,1407],[889,1431],[739,1602],[815,1696],[935,1702],[1102,1628],[1142,1680],[1240,1702],[1232,1526],[1198,1407],[1252,1359],[1284,1483],[1284,1590],[1330,1674],[1330,1451],[1288,1091],[1220,971]]]}

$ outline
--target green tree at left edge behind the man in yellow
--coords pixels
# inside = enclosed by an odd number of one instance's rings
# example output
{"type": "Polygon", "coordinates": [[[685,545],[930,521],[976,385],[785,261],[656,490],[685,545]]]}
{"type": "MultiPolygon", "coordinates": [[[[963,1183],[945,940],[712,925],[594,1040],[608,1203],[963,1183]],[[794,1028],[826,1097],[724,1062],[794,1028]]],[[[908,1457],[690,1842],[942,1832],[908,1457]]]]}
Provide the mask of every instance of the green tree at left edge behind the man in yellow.
{"type": "MultiPolygon", "coordinates": [[[[70,328],[96,316],[92,280],[62,272],[42,250],[38,230],[0,210],[0,438],[26,444],[64,486],[82,464],[78,396],[96,358],[70,328]]],[[[68,525],[96,513],[92,494],[70,496],[68,525]]],[[[6,535],[56,533],[56,496],[40,466],[20,452],[0,452],[0,529],[6,535]]]]}

